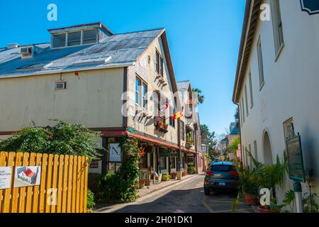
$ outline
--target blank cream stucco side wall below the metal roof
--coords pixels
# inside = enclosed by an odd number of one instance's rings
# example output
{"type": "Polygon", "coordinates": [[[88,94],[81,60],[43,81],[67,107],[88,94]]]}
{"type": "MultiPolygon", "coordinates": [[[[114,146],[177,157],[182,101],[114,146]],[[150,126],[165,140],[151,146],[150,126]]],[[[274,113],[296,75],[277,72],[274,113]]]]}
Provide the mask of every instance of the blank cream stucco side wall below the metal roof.
{"type": "Polygon", "coordinates": [[[121,127],[123,68],[63,73],[67,89],[55,91],[60,74],[0,79],[0,131],[16,131],[48,119],[92,128],[121,127]]]}

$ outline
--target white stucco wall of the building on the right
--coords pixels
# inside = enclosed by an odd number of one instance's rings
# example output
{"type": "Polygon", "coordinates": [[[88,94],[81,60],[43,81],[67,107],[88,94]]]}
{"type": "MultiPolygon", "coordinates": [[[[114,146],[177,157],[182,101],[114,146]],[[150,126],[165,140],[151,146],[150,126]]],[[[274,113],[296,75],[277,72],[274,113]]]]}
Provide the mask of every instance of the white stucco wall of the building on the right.
{"type": "MultiPolygon", "coordinates": [[[[269,4],[269,1],[267,1],[269,4]]],[[[305,167],[311,167],[315,174],[315,192],[319,192],[319,15],[309,16],[301,11],[300,1],[281,0],[281,19],[284,32],[284,49],[275,62],[272,21],[259,23],[252,45],[248,69],[252,71],[252,90],[254,105],[250,108],[248,72],[240,94],[240,102],[245,94],[249,116],[245,113],[242,125],[242,145],[254,149],[257,140],[258,160],[264,161],[263,135],[267,131],[272,147],[272,159],[283,157],[285,145],[284,121],[293,118],[296,133],[301,133],[305,167]],[[259,91],[257,61],[257,40],[262,40],[264,62],[264,87],[259,91]]],[[[245,100],[245,96],[244,96],[245,100]]],[[[242,109],[240,109],[242,114],[242,109]]],[[[287,180],[279,197],[290,188],[287,180]]],[[[303,190],[306,191],[305,184],[303,190]]]]}

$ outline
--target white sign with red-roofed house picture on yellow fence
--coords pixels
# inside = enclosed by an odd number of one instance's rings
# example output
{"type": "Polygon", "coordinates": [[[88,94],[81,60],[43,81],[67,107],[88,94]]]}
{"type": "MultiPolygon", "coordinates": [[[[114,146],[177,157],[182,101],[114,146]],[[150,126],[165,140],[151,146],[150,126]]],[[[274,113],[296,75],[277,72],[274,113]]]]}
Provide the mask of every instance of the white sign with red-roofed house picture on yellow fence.
{"type": "Polygon", "coordinates": [[[40,185],[40,166],[18,166],[14,174],[13,187],[28,187],[40,185]]]}

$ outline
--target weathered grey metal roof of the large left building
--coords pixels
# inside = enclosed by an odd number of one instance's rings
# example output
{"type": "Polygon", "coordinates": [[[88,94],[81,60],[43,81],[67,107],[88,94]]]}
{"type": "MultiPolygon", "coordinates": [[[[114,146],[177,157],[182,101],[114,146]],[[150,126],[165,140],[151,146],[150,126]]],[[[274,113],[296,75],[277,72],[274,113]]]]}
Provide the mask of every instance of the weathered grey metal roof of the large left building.
{"type": "Polygon", "coordinates": [[[133,65],[162,33],[164,28],[115,34],[100,43],[58,49],[51,49],[50,43],[35,44],[43,51],[27,59],[21,59],[21,47],[0,48],[0,78],[133,65]]]}

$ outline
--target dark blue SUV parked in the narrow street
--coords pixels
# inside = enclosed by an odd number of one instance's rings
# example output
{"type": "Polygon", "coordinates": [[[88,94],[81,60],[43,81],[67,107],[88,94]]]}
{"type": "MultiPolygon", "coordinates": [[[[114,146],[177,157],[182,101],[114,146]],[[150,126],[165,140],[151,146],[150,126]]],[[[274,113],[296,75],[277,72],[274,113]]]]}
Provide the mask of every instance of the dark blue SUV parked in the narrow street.
{"type": "Polygon", "coordinates": [[[213,162],[204,180],[204,192],[235,191],[238,189],[238,172],[233,162],[213,162]]]}

